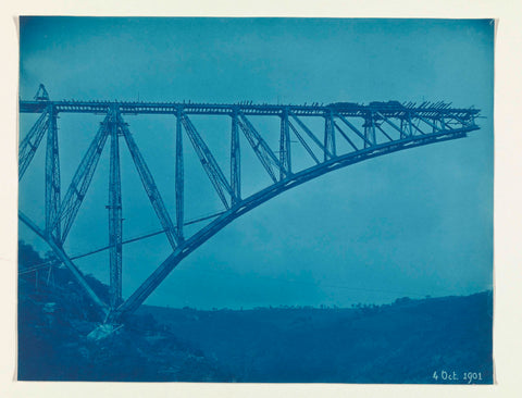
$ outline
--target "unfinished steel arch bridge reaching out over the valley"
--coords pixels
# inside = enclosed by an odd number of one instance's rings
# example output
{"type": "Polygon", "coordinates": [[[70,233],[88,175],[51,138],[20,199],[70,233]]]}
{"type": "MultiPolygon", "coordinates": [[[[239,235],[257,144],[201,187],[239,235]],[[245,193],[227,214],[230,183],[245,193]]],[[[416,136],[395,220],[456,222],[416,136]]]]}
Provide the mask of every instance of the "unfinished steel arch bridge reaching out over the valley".
{"type": "Polygon", "coordinates": [[[22,210],[18,219],[44,239],[58,259],[72,272],[87,296],[99,308],[104,322],[121,322],[135,311],[189,253],[215,235],[235,219],[271,198],[319,177],[387,153],[445,140],[465,137],[478,129],[475,119],[480,110],[457,109],[445,102],[400,103],[397,101],[359,104],[336,102],[330,104],[234,104],[190,102],[125,102],[125,101],[51,101],[40,85],[34,100],[20,101],[21,113],[38,114],[36,123],[20,141],[18,181],[32,163],[47,135],[45,171],[45,225],[38,226],[22,210]],[[58,116],[62,113],[103,115],[98,132],[83,156],[64,192],[61,188],[59,160],[58,116]],[[171,216],[158,189],[145,157],[141,154],[124,116],[153,114],[171,117],[175,125],[175,214],[171,216]],[[194,115],[216,115],[229,121],[229,171],[225,173],[209,149],[191,119],[194,115]],[[278,142],[270,145],[254,126],[253,116],[275,119],[278,142]],[[311,127],[315,121],[315,128],[311,127]],[[320,125],[321,128],[316,128],[320,125]],[[126,299],[122,296],[122,189],[120,147],[128,148],[150,204],[161,223],[171,246],[171,254],[126,299]],[[194,234],[186,234],[185,225],[185,162],[186,138],[221,200],[222,211],[198,220],[207,223],[194,234]],[[244,138],[241,138],[244,137],[244,138]],[[246,139],[270,184],[251,195],[241,195],[241,146],[246,139]],[[82,271],[64,251],[63,244],[74,225],[105,142],[110,140],[109,176],[109,250],[110,301],[104,302],[89,286],[82,271]],[[299,167],[295,149],[299,148],[310,165],[299,167]],[[62,195],[63,194],[63,195],[62,195]]]}

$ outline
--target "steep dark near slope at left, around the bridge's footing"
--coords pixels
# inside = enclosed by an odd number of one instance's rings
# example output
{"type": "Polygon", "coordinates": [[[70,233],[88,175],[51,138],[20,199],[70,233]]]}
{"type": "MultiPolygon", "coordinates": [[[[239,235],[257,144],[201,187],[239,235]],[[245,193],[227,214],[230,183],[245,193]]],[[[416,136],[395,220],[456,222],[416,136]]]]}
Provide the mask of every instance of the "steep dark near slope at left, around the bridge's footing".
{"type": "MultiPolygon", "coordinates": [[[[23,381],[226,382],[215,361],[179,341],[150,314],[133,315],[105,339],[88,338],[99,318],[69,271],[26,272],[44,259],[20,245],[18,368],[23,381]],[[29,262],[30,260],[30,262],[29,262]]],[[[49,256],[47,256],[49,258],[49,256]]],[[[89,283],[100,297],[108,287],[89,283]]]]}

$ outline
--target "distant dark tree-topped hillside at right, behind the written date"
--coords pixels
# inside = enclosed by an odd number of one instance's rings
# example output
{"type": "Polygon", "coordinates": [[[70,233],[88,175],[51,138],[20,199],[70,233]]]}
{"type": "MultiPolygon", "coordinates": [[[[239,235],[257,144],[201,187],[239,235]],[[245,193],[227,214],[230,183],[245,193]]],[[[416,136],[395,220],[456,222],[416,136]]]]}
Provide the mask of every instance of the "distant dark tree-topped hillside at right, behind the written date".
{"type": "Polygon", "coordinates": [[[140,312],[237,382],[465,383],[467,372],[493,380],[490,293],[361,309],[140,312]],[[448,380],[453,372],[459,381],[448,380]]]}

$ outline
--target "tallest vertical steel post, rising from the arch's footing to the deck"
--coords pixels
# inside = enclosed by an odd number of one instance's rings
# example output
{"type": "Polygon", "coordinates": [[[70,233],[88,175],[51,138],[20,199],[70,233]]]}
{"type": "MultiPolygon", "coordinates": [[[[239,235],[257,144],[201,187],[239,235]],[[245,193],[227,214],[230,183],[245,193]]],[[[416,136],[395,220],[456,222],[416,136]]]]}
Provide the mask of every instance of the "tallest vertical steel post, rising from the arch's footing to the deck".
{"type": "Polygon", "coordinates": [[[109,178],[109,246],[111,308],[122,302],[122,184],[117,108],[111,109],[109,125],[111,136],[111,165],[109,178]]]}

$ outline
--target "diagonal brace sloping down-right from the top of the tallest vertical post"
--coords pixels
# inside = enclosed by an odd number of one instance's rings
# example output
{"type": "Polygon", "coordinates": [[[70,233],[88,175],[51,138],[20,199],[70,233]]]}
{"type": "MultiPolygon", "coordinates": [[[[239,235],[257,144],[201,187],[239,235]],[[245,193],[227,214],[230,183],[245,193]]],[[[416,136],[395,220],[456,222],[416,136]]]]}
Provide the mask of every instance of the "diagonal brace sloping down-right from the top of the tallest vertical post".
{"type": "Polygon", "coordinates": [[[127,124],[123,121],[123,117],[120,114],[117,115],[117,123],[122,128],[123,137],[125,138],[125,142],[127,144],[128,150],[133,158],[134,164],[136,165],[136,170],[138,171],[141,184],[144,185],[147,196],[149,197],[150,203],[152,204],[152,208],[154,209],[154,212],[160,220],[163,229],[165,231],[166,238],[169,239],[171,247],[175,249],[181,239],[178,231],[176,231],[174,227],[172,219],[166,211],[165,203],[163,202],[160,191],[158,190],[154,178],[152,177],[152,174],[150,173],[150,170],[147,166],[138,146],[136,145],[127,124]]]}

